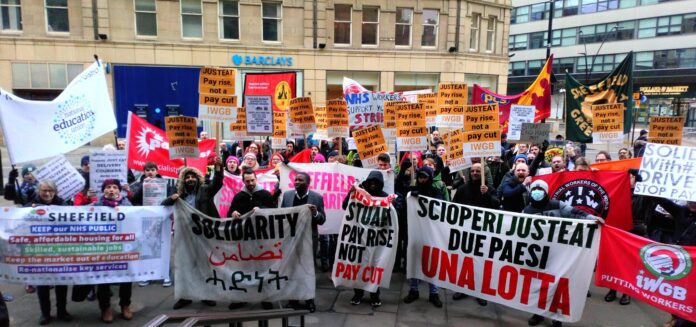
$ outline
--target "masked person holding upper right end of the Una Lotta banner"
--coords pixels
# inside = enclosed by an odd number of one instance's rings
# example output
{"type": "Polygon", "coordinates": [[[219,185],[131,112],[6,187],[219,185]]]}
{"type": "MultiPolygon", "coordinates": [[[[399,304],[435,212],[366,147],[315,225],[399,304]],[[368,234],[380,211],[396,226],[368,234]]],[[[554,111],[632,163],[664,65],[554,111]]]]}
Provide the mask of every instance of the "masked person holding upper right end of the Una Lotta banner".
{"type": "MultiPolygon", "coordinates": [[[[526,214],[542,215],[560,218],[575,218],[575,219],[593,219],[600,224],[604,223],[604,219],[593,216],[585,211],[577,209],[555,199],[549,198],[549,185],[543,180],[536,180],[529,185],[529,205],[522,211],[526,214]]],[[[544,321],[544,317],[533,315],[527,323],[530,326],[536,326],[544,321]]],[[[560,327],[562,323],[554,320],[552,326],[560,327]]]]}

